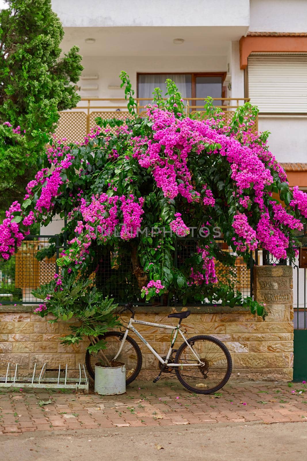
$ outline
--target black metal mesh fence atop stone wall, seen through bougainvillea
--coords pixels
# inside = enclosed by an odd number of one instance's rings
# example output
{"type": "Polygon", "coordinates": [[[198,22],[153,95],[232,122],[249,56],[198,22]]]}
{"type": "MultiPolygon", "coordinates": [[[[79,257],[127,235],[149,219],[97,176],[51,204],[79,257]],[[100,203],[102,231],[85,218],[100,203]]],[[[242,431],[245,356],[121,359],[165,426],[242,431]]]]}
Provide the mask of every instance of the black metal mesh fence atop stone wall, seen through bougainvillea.
{"type": "MultiPolygon", "coordinates": [[[[188,274],[190,258],[195,254],[197,238],[178,238],[175,242],[174,268],[180,268],[188,274]]],[[[243,296],[253,294],[253,266],[258,264],[258,254],[250,254],[248,263],[237,256],[224,241],[218,241],[220,249],[219,260],[215,260],[215,273],[220,282],[232,286],[243,296]],[[224,262],[234,262],[234,266],[224,265],[224,262]]],[[[9,261],[0,263],[0,303],[2,304],[38,304],[31,291],[41,284],[52,280],[54,273],[59,273],[60,268],[56,260],[65,247],[59,243],[58,236],[28,236],[9,261]],[[47,256],[43,257],[45,254],[47,256]],[[48,257],[49,256],[49,257],[48,257]]],[[[88,275],[93,279],[93,284],[104,292],[105,296],[114,298],[115,302],[145,304],[141,298],[138,280],[133,273],[133,264],[128,254],[118,254],[108,247],[95,248],[95,257],[88,268],[88,275]]],[[[197,287],[199,289],[199,287],[197,287]]],[[[197,290],[195,289],[195,292],[197,290]]],[[[209,299],[203,297],[202,301],[195,299],[193,289],[190,289],[187,299],[179,296],[164,295],[157,297],[149,305],[210,305],[209,299]]],[[[211,303],[212,304],[212,303],[211,303]]]]}

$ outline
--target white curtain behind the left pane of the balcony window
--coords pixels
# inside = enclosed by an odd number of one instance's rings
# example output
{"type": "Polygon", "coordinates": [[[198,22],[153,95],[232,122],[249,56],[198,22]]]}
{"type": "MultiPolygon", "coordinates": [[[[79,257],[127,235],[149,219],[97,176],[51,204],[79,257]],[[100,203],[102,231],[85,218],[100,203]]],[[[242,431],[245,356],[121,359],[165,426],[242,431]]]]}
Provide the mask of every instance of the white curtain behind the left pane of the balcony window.
{"type": "MultiPolygon", "coordinates": [[[[162,97],[164,98],[167,78],[176,83],[183,98],[191,98],[191,74],[141,74],[139,75],[139,98],[148,98],[148,101],[144,101],[145,104],[148,104],[152,101],[152,93],[156,87],[162,90],[162,97]]],[[[145,104],[141,103],[142,106],[145,104]]]]}

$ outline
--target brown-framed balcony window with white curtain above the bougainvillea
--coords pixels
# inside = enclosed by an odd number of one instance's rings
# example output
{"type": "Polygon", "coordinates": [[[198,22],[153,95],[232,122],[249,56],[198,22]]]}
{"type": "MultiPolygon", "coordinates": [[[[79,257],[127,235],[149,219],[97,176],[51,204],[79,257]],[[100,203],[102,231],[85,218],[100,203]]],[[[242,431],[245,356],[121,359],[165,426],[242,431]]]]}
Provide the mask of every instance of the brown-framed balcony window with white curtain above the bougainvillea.
{"type": "MultiPolygon", "coordinates": [[[[177,73],[177,74],[142,74],[137,75],[138,81],[138,97],[148,98],[142,101],[142,106],[152,101],[152,93],[156,87],[161,88],[162,96],[166,92],[166,79],[173,80],[183,98],[201,98],[204,100],[207,96],[212,98],[224,97],[223,81],[225,73],[177,73]]],[[[221,105],[221,101],[214,101],[216,106],[221,105]]],[[[190,105],[201,105],[200,101],[194,104],[190,101],[190,105]]]]}

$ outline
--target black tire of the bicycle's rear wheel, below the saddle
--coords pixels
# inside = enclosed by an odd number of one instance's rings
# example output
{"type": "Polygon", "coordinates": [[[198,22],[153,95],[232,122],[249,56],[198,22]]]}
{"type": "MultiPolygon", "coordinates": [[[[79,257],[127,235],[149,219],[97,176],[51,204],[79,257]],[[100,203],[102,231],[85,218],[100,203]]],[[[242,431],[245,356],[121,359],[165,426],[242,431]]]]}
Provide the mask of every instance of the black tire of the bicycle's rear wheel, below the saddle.
{"type": "MultiPolygon", "coordinates": [[[[175,368],[175,373],[177,378],[179,379],[180,383],[188,390],[191,390],[191,392],[195,392],[196,394],[212,394],[213,392],[216,392],[217,390],[221,389],[225,384],[227,383],[228,379],[230,378],[230,375],[232,373],[232,358],[230,355],[229,350],[226,348],[225,344],[223,344],[219,339],[214,338],[213,336],[207,336],[207,335],[197,335],[193,336],[189,339],[187,339],[188,343],[195,342],[197,340],[204,340],[204,341],[209,341],[212,343],[215,343],[217,346],[220,347],[220,349],[223,350],[223,352],[226,355],[227,359],[227,369],[226,369],[226,374],[224,378],[221,380],[221,382],[216,385],[215,387],[211,389],[198,389],[197,387],[192,387],[190,384],[188,384],[185,379],[181,375],[181,369],[180,367],[175,368]]],[[[177,351],[176,357],[175,357],[175,363],[180,363],[180,355],[182,351],[187,347],[186,343],[182,343],[177,351]]]]}

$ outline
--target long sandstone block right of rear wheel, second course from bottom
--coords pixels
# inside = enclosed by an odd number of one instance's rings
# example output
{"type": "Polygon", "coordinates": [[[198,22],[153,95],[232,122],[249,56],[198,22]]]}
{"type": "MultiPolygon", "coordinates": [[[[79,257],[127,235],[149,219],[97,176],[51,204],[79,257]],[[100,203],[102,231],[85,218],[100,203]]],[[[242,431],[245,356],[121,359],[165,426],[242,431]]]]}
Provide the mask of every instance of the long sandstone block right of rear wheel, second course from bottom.
{"type": "Polygon", "coordinates": [[[289,352],[266,352],[234,355],[235,368],[289,368],[289,352]]]}

